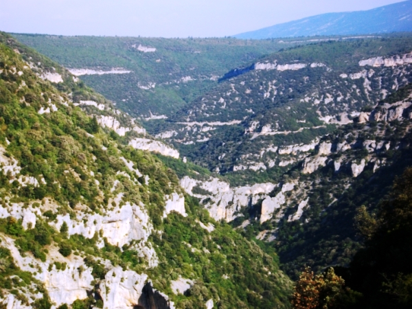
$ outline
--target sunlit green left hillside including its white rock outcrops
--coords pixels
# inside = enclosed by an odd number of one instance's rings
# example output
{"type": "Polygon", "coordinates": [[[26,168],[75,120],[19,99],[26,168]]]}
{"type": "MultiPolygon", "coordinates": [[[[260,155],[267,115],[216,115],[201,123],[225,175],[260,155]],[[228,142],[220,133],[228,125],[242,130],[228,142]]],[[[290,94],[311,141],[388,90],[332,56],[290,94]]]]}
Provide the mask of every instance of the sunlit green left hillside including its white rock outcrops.
{"type": "Polygon", "coordinates": [[[1,306],[288,308],[277,255],[210,218],[142,136],[0,34],[1,306]]]}

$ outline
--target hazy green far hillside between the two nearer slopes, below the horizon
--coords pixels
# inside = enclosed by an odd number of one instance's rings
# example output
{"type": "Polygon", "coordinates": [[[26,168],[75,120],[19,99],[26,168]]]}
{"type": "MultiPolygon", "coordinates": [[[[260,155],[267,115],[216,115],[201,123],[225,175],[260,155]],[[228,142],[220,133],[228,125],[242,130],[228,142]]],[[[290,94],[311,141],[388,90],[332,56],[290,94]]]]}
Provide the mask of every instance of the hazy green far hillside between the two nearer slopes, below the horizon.
{"type": "Polygon", "coordinates": [[[235,38],[13,36],[73,73],[84,74],[82,80],[90,87],[142,118],[167,117],[214,87],[233,67],[299,44],[235,38]]]}

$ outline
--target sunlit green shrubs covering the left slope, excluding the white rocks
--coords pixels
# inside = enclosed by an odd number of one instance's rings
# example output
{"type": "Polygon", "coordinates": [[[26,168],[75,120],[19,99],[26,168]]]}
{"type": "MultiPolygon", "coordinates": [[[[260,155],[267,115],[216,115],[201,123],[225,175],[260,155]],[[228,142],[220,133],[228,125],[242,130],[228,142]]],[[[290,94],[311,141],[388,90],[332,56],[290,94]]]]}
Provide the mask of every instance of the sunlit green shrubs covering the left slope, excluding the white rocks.
{"type": "MultiPolygon", "coordinates": [[[[167,293],[177,308],[202,308],[209,299],[214,299],[218,308],[288,308],[290,280],[279,270],[277,255],[264,253],[229,225],[209,218],[196,198],[185,196],[187,217],[174,212],[164,217],[167,196],[183,194],[175,172],[150,153],[127,146],[135,133],[119,137],[113,130],[100,128],[95,117],[72,104],[75,96],[76,101],[93,99],[105,104],[101,113],[110,115],[110,102],[82,82],[73,82],[65,69],[10,36],[1,34],[0,41],[1,167],[16,162],[16,170],[0,170],[0,207],[6,214],[10,209],[41,211],[35,225],[25,225],[21,217],[12,214],[0,219],[2,306],[10,293],[34,308],[52,306],[44,282],[34,279],[46,270],[33,266],[28,273],[21,271],[13,262],[19,254],[49,264],[48,271],[63,272],[71,266],[62,258],[54,260],[60,255],[81,257],[80,275],[91,269],[95,288],[88,291],[89,298],[60,308],[102,308],[102,299],[93,295],[98,295],[99,284],[113,266],[148,274],[154,288],[167,293]],[[34,60],[45,63],[30,69],[34,60]],[[63,82],[53,84],[38,77],[47,65],[61,74],[63,82]],[[39,113],[46,108],[50,108],[48,113],[39,113]],[[131,161],[133,169],[148,180],[127,168],[124,160],[131,161]],[[119,194],[121,200],[116,201],[119,194]],[[148,267],[135,240],[120,248],[104,238],[102,230],[86,237],[69,233],[71,226],[66,222],[56,229],[62,216],[73,225],[93,225],[86,216],[104,216],[114,207],[122,209],[128,204],[144,207],[142,211],[150,217],[146,229],[153,226],[155,231],[148,242],[157,253],[159,266],[148,267]],[[206,231],[199,222],[213,224],[214,231],[206,231]],[[13,255],[8,249],[11,243],[18,249],[13,255]],[[179,275],[194,281],[184,295],[174,295],[170,287],[179,275]],[[38,292],[42,297],[29,297],[38,292]]],[[[98,112],[91,106],[84,109],[93,115],[98,112]]],[[[174,165],[173,161],[168,164],[174,165]]],[[[194,172],[203,171],[189,166],[194,172]]]]}

